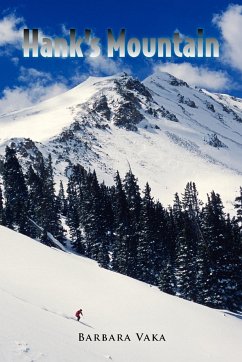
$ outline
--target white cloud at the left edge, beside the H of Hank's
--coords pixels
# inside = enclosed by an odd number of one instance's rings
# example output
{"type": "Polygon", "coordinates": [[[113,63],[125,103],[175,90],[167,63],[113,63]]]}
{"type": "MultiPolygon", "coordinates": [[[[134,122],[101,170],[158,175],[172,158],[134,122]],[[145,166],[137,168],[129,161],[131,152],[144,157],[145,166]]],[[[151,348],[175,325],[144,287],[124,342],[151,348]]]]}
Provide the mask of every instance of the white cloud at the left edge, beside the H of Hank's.
{"type": "Polygon", "coordinates": [[[0,46],[15,45],[19,46],[23,38],[23,18],[17,18],[15,15],[8,15],[0,20],[0,46]]]}

